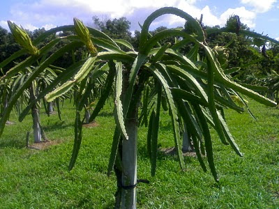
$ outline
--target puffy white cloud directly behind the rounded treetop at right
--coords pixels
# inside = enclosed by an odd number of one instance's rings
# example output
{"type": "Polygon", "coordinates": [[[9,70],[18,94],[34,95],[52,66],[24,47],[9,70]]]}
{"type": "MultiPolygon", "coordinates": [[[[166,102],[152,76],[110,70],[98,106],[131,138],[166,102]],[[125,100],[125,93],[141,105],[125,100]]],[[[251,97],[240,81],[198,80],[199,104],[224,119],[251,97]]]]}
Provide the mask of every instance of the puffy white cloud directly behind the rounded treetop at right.
{"type": "Polygon", "coordinates": [[[220,21],[222,22],[222,24],[225,24],[227,22],[227,19],[230,15],[239,15],[241,22],[243,24],[247,24],[250,28],[254,28],[256,26],[256,13],[246,10],[244,6],[234,9],[227,9],[222,15],[220,15],[220,21]]]}

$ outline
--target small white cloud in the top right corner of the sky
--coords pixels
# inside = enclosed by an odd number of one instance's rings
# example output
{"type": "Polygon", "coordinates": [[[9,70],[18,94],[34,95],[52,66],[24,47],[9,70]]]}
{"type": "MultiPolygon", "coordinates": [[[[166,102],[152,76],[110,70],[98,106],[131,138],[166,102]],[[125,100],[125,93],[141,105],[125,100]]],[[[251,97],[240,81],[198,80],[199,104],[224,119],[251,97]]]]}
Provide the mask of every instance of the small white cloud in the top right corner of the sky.
{"type": "Polygon", "coordinates": [[[241,0],[241,3],[252,6],[256,13],[266,13],[277,0],[241,0]]]}

